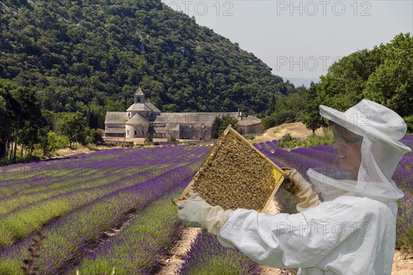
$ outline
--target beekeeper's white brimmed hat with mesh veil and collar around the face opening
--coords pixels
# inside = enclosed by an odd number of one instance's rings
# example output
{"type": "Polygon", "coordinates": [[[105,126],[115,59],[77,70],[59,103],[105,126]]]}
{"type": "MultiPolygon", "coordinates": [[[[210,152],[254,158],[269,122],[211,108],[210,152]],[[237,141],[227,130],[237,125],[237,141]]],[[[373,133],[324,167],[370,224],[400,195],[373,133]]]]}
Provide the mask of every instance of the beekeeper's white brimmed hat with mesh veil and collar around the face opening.
{"type": "Polygon", "coordinates": [[[363,136],[361,165],[357,181],[346,179],[340,172],[319,174],[308,170],[308,176],[324,198],[338,195],[368,196],[381,201],[395,201],[404,196],[396,187],[392,175],[410,147],[399,140],[407,131],[405,121],[396,112],[383,105],[363,99],[346,112],[320,105],[320,114],[363,136]]]}

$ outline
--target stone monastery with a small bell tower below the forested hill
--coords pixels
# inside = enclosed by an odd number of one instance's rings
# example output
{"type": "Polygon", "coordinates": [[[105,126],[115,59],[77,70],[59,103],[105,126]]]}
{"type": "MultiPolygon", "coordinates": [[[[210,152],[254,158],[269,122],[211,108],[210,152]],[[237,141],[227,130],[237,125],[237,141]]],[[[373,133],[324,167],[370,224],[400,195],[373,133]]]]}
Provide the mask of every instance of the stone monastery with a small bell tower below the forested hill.
{"type": "Polygon", "coordinates": [[[242,134],[261,134],[261,119],[255,116],[242,117],[238,112],[160,112],[138,88],[134,104],[126,112],[107,112],[105,136],[127,138],[145,137],[151,134],[156,139],[211,139],[211,126],[217,116],[232,116],[238,119],[242,134]]]}

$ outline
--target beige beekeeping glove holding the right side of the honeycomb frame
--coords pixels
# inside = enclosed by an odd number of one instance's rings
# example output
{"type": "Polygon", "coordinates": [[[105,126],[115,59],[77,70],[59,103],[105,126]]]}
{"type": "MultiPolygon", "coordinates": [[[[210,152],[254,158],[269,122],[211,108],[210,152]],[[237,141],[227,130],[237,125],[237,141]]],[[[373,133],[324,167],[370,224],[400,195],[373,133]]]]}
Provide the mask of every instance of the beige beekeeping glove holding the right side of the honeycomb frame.
{"type": "Polygon", "coordinates": [[[297,170],[293,168],[282,168],[284,170],[284,181],[281,187],[298,198],[297,211],[308,210],[311,207],[319,205],[319,196],[297,170]]]}

